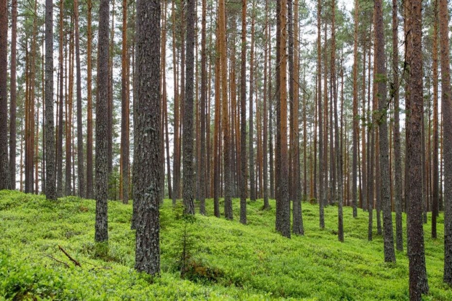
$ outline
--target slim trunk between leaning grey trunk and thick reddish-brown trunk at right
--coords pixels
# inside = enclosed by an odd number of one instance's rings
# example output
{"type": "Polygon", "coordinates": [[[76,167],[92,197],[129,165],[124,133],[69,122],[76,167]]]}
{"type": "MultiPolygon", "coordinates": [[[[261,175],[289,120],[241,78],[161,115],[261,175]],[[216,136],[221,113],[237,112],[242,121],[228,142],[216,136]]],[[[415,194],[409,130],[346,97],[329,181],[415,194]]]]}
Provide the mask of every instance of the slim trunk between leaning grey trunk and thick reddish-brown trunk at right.
{"type": "Polygon", "coordinates": [[[394,175],[395,175],[395,205],[396,205],[396,249],[403,251],[403,229],[402,229],[402,166],[400,153],[400,117],[399,117],[399,18],[398,1],[392,1],[392,87],[391,93],[394,98],[394,175]]]}

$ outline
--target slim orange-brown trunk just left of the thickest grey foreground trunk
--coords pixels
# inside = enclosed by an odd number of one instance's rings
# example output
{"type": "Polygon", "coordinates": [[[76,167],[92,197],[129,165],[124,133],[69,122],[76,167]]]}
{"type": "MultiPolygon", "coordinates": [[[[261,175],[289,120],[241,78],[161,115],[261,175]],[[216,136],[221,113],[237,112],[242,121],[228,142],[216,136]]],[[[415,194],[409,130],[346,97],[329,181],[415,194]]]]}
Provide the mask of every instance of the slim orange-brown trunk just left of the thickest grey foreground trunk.
{"type": "MultiPolygon", "coordinates": [[[[127,0],[122,0],[121,167],[122,202],[129,202],[129,98],[127,95],[127,0]]],[[[165,101],[165,100],[163,100],[165,101]]]]}

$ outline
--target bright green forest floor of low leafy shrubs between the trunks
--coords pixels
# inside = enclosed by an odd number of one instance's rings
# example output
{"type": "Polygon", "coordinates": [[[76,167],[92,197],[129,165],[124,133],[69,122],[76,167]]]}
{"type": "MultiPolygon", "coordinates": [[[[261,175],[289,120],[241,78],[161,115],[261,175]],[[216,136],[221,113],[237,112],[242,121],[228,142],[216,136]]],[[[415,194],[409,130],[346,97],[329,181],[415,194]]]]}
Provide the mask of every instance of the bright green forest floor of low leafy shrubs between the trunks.
{"type": "MultiPolygon", "coordinates": [[[[164,201],[161,274],[153,278],[134,271],[132,204],[108,203],[106,249],[94,243],[95,201],[51,202],[0,191],[0,300],[408,300],[406,236],[397,263],[384,263],[376,227],[374,240],[367,241],[367,212],[359,209],[352,218],[351,208],[344,208],[341,243],[337,206],[325,208],[320,230],[318,205],[303,202],[305,235],[287,239],[274,230],[273,200],[266,211],[262,200],[248,201],[246,226],[238,222],[238,199],[233,221],[213,217],[213,202],[206,203],[208,216],[186,219],[180,206],[164,201]]],[[[424,299],[452,300],[452,288],[442,283],[443,215],[438,239],[431,239],[430,226],[429,215],[424,238],[430,295],[424,299]]]]}

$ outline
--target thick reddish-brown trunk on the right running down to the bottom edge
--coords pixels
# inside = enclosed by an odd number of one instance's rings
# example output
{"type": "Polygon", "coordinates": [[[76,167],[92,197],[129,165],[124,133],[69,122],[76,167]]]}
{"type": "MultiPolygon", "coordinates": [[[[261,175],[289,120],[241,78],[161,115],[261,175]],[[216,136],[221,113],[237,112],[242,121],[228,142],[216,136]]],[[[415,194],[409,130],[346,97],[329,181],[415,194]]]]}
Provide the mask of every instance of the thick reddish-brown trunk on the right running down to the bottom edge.
{"type": "MultiPolygon", "coordinates": [[[[408,183],[408,258],[410,271],[410,299],[421,300],[421,294],[427,294],[427,272],[425,268],[424,237],[422,230],[422,149],[421,119],[422,114],[422,13],[421,0],[408,0],[406,5],[411,10],[411,38],[408,45],[412,55],[409,61],[410,70],[410,106],[407,122],[407,161],[409,162],[408,183]]],[[[407,17],[407,16],[405,16],[407,17]]],[[[443,40],[443,39],[441,39],[443,40]]],[[[450,91],[450,90],[449,90],[450,91]]],[[[392,229],[392,228],[391,228],[392,229]]]]}

